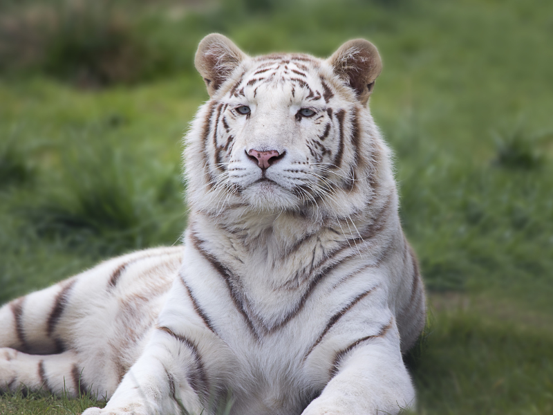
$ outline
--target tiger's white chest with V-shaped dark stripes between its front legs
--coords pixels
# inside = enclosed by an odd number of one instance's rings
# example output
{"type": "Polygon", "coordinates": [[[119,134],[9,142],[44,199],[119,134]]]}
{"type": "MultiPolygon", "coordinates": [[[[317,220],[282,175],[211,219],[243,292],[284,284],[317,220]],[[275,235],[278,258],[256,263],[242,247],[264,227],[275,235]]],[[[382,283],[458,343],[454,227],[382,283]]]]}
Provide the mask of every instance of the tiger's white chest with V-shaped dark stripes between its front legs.
{"type": "Polygon", "coordinates": [[[187,307],[183,333],[194,336],[200,326],[213,332],[196,334],[198,349],[207,351],[207,370],[244,405],[236,413],[301,413],[332,377],[337,351],[371,328],[371,310],[361,304],[341,316],[357,293],[376,285],[361,274],[341,284],[341,277],[361,268],[355,261],[299,289],[258,284],[263,289],[256,292],[214,257],[191,252],[188,258],[181,270],[186,289],[169,301],[187,307]]]}

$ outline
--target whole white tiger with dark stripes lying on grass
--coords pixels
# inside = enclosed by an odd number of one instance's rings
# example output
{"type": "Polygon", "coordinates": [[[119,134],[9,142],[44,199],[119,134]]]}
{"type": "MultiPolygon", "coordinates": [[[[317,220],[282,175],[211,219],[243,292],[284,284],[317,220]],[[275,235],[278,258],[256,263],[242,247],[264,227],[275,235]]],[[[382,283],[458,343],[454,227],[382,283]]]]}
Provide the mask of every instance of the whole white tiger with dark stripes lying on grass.
{"type": "Polygon", "coordinates": [[[111,398],[84,415],[411,407],[424,288],[366,108],[377,49],[248,57],[213,34],[195,63],[210,99],[185,139],[184,246],[3,306],[0,388],[111,398]]]}

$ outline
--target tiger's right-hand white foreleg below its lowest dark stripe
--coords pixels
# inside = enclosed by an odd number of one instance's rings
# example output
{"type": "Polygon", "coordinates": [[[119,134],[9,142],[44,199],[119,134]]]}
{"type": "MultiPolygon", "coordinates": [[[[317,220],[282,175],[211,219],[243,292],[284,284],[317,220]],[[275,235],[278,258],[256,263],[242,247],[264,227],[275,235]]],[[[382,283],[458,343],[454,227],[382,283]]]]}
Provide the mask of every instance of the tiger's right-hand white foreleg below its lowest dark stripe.
{"type": "Polygon", "coordinates": [[[415,405],[395,322],[337,353],[332,365],[334,376],[302,415],[392,415],[415,405]]]}

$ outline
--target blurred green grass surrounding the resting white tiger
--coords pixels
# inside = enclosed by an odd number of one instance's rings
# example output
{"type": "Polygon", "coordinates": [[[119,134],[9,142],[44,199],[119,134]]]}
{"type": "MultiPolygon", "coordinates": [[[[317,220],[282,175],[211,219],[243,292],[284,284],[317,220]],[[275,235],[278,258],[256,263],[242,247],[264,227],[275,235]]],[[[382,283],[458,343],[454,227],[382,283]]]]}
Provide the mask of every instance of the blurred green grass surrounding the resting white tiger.
{"type": "MultiPolygon", "coordinates": [[[[418,412],[553,414],[551,1],[1,0],[0,303],[178,243],[212,32],[250,54],[377,45],[370,107],[429,294],[406,356],[418,412]]],[[[0,397],[3,414],[71,405],[0,397]]]]}

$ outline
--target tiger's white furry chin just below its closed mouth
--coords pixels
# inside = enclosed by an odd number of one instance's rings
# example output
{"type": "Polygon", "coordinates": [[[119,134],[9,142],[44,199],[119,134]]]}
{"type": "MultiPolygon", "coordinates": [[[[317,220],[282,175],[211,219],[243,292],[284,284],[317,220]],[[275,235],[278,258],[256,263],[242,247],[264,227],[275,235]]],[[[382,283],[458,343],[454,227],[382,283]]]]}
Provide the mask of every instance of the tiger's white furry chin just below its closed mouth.
{"type": "Polygon", "coordinates": [[[274,181],[257,181],[243,190],[241,195],[252,209],[260,212],[282,212],[300,208],[297,196],[274,181]]]}

